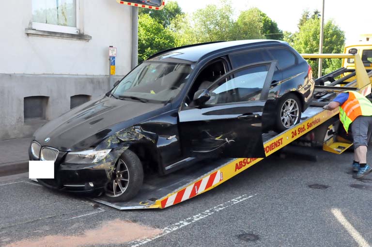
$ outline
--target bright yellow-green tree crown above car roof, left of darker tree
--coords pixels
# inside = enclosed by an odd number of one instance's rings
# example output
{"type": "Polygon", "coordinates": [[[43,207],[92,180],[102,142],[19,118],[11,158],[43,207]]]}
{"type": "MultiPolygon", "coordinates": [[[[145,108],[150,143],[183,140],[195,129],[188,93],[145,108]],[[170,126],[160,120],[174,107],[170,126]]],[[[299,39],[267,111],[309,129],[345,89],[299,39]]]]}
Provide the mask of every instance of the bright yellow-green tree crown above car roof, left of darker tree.
{"type": "Polygon", "coordinates": [[[233,24],[233,40],[264,39],[261,13],[257,8],[241,12],[233,24]]]}

